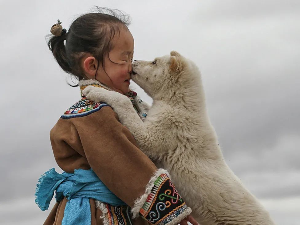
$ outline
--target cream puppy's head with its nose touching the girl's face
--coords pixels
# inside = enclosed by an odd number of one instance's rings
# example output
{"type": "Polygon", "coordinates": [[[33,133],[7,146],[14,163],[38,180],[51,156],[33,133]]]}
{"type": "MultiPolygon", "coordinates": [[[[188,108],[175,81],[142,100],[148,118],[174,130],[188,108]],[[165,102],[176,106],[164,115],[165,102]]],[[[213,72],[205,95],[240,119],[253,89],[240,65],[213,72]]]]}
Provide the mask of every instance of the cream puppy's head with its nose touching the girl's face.
{"type": "Polygon", "coordinates": [[[154,98],[177,86],[187,66],[187,60],[176,51],[153,61],[136,60],[132,63],[132,80],[154,98]]]}

